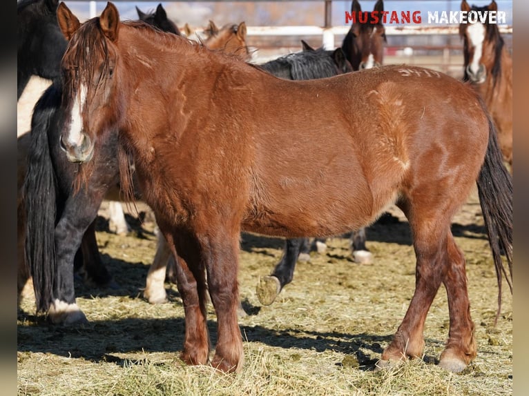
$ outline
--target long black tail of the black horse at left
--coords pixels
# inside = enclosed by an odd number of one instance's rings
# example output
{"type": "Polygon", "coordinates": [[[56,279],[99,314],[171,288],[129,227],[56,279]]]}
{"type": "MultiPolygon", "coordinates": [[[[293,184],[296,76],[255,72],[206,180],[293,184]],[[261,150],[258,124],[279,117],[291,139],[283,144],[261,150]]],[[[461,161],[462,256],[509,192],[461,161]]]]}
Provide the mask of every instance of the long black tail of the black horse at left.
{"type": "MultiPolygon", "coordinates": [[[[33,278],[37,311],[47,312],[55,274],[57,179],[50,156],[48,128],[57,109],[57,88],[41,96],[31,119],[31,143],[23,195],[26,203],[25,259],[33,278]]],[[[60,95],[58,96],[60,100],[60,95]]]]}

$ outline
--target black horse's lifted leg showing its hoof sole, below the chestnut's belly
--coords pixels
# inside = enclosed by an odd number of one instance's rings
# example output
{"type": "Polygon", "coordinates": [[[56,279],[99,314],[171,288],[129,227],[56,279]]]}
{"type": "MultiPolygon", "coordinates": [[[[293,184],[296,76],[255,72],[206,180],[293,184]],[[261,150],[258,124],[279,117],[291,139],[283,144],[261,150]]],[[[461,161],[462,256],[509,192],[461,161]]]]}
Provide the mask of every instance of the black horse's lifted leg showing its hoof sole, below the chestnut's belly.
{"type": "Polygon", "coordinates": [[[271,275],[259,279],[257,297],[261,304],[272,304],[282,288],[292,281],[300,248],[303,247],[307,250],[307,245],[308,241],[305,238],[285,240],[285,253],[283,253],[276,267],[273,268],[271,275]]]}

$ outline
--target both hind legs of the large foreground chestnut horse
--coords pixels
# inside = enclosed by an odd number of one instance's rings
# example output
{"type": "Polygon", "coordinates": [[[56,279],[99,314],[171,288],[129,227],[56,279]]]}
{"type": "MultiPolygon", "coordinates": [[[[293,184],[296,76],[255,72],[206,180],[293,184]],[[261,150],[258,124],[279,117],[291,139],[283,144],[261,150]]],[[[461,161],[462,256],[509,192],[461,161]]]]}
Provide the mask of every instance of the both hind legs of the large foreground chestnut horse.
{"type": "MultiPolygon", "coordinates": [[[[423,188],[417,190],[424,191],[423,188]]],[[[432,190],[434,188],[430,188],[430,197],[435,195],[432,190]]],[[[410,200],[401,206],[410,220],[414,236],[417,258],[415,292],[391,344],[383,351],[379,366],[398,362],[405,357],[422,356],[426,315],[441,282],[445,282],[449,295],[450,340],[445,350],[448,355],[441,355],[441,361],[446,364],[441,366],[459,371],[476,355],[474,324],[470,319],[466,289],[465,261],[450,232],[450,219],[459,203],[447,198],[442,203],[439,200],[427,200],[423,195],[414,202],[410,200]],[[463,356],[466,358],[456,362],[463,356]]]]}

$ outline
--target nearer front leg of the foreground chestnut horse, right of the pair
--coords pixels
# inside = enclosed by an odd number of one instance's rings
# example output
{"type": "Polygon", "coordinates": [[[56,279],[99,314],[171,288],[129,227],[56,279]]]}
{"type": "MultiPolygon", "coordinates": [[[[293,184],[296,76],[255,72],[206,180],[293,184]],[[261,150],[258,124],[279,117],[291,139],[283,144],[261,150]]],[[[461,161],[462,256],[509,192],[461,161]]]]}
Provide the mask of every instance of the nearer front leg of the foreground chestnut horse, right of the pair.
{"type": "Polygon", "coordinates": [[[218,341],[211,365],[224,372],[238,372],[244,361],[242,336],[238,326],[239,232],[222,230],[216,235],[204,237],[202,246],[209,295],[218,321],[218,341]]]}

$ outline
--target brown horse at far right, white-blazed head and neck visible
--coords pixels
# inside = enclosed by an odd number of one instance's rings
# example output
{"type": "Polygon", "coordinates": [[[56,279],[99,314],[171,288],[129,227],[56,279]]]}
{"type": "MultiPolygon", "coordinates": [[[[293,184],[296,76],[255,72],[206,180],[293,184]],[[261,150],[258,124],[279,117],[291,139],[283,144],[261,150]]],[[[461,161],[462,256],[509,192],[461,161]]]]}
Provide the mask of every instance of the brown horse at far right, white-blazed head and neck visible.
{"type": "MultiPolygon", "coordinates": [[[[497,11],[496,1],[477,7],[461,2],[462,11],[497,11]]],[[[499,34],[498,25],[489,23],[461,23],[459,35],[463,39],[465,81],[485,100],[498,130],[498,141],[503,159],[512,171],[512,59],[499,34]]]]}

